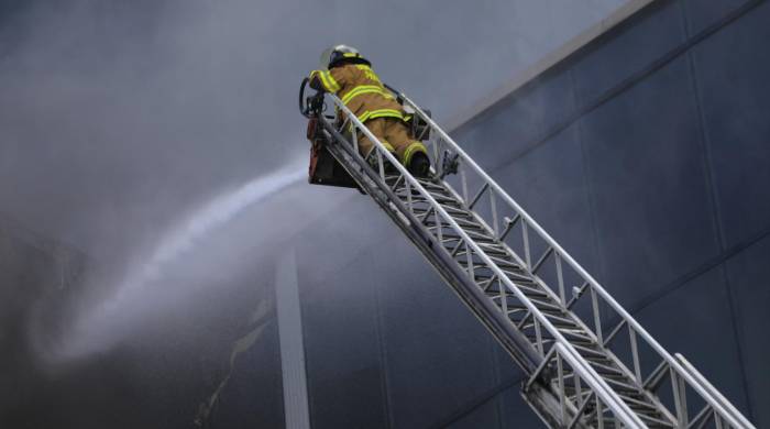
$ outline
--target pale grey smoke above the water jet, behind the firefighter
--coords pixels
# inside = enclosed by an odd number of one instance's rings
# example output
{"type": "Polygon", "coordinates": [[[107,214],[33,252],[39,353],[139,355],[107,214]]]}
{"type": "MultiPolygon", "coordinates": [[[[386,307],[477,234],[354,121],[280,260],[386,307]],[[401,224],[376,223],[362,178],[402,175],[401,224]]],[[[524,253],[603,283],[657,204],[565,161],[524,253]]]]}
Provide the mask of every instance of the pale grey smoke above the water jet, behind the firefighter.
{"type": "Polygon", "coordinates": [[[0,205],[110,262],[305,151],[296,90],[324,46],[359,46],[441,121],[560,37],[519,2],[29,4],[0,21],[0,205]]]}

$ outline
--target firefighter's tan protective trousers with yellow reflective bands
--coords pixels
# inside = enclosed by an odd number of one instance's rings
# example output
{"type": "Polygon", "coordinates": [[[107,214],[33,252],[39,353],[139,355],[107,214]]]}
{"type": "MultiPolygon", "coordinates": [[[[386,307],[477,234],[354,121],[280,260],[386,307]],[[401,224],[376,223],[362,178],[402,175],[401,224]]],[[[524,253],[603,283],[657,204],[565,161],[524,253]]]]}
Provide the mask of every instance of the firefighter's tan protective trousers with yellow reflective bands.
{"type": "MultiPolygon", "coordinates": [[[[388,151],[394,152],[404,165],[409,165],[415,153],[422,152],[426,155],[428,153],[422,142],[411,139],[409,129],[400,119],[376,118],[366,121],[364,125],[388,151]]],[[[372,151],[374,143],[363,133],[359,134],[361,134],[359,136],[359,151],[365,157],[372,151]]]]}

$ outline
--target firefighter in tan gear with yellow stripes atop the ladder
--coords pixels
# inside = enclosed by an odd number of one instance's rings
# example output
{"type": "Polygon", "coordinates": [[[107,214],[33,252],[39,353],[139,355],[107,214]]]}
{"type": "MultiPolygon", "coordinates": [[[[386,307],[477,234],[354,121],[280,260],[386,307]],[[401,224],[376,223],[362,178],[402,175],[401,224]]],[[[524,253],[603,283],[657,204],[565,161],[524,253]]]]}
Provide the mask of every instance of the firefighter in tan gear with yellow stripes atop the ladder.
{"type": "MultiPolygon", "coordinates": [[[[337,45],[321,54],[321,67],[310,73],[310,87],[336,94],[411,174],[428,176],[428,151],[410,135],[403,106],[383,86],[372,70],[372,63],[354,47],[337,45]]],[[[373,148],[369,138],[359,136],[359,150],[364,158],[369,158],[373,148]]]]}

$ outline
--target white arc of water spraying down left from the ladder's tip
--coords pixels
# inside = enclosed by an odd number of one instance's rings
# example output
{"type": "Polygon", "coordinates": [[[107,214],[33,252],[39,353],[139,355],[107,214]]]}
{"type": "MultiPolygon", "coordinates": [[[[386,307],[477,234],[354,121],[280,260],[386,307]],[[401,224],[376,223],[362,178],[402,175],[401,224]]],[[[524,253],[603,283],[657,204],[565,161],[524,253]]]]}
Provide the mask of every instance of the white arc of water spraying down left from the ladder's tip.
{"type": "MultiPolygon", "coordinates": [[[[168,290],[157,290],[173,286],[164,285],[163,280],[168,282],[172,274],[169,271],[174,265],[183,258],[187,258],[188,262],[200,260],[200,248],[209,244],[210,235],[221,234],[223,227],[250,207],[262,204],[262,209],[274,209],[265,200],[297,184],[305,174],[304,163],[292,163],[275,173],[257,177],[240,188],[216,197],[189,216],[179,219],[175,228],[164,232],[154,249],[143,253],[139,261],[128,267],[124,278],[118,282],[119,286],[112,296],[95,302],[78,315],[72,332],[59,342],[64,344],[64,349],[47,354],[77,358],[103,351],[120,342],[127,330],[135,329],[139,319],[147,316],[150,308],[169,308],[178,305],[178,295],[189,295],[189,286],[195,286],[194,284],[187,284],[187,290],[174,290],[172,294],[168,290]],[[199,254],[195,255],[194,252],[199,254]],[[151,287],[155,289],[148,289],[151,287]]],[[[262,244],[266,243],[260,243],[258,240],[254,243],[262,244]]],[[[234,253],[238,250],[231,248],[229,251],[234,253]]],[[[205,264],[202,267],[198,265],[196,271],[201,268],[229,272],[235,270],[234,266],[205,264]]]]}

